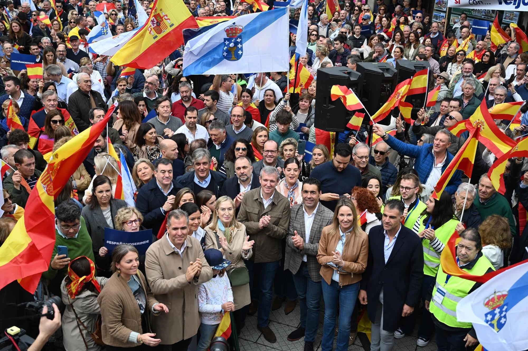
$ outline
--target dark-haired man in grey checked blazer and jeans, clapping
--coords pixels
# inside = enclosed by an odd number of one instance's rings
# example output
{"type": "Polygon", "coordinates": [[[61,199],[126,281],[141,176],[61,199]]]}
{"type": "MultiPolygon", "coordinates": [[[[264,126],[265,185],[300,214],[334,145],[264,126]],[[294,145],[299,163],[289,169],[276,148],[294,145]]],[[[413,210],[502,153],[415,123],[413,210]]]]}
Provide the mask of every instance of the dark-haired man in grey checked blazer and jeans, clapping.
{"type": "Polygon", "coordinates": [[[288,340],[304,336],[304,351],[314,350],[319,324],[319,301],[322,295],[321,265],[317,262],[319,239],[323,228],[332,223],[334,213],[319,203],[321,183],[315,178],[303,182],[303,203],[291,208],[290,225],[286,235],[284,269],[293,274],[299,296],[300,327],[288,335],[288,340]]]}

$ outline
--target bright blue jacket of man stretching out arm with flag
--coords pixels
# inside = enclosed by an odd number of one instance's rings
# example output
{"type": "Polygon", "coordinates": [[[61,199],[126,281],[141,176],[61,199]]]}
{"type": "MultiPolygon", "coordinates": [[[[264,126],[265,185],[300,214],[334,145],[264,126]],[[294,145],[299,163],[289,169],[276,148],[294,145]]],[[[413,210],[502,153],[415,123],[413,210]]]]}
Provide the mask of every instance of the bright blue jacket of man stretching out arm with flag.
{"type": "MultiPolygon", "coordinates": [[[[435,157],[432,154],[432,144],[423,144],[423,146],[406,144],[392,137],[392,135],[389,135],[389,138],[387,138],[385,142],[396,152],[403,153],[404,155],[407,155],[409,157],[416,158],[416,161],[414,162],[414,169],[416,169],[416,171],[418,172],[420,182],[425,183],[427,181],[429,173],[431,173],[432,166],[435,163],[435,157]]],[[[446,162],[444,162],[444,165],[442,166],[442,173],[445,172],[447,166],[454,158],[452,154],[450,154],[448,151],[446,152],[447,159],[446,162]]],[[[455,193],[458,186],[462,182],[462,180],[460,179],[461,176],[462,172],[456,170],[451,179],[449,179],[449,182],[447,183],[447,187],[445,189],[449,194],[452,195],[455,193]]]]}

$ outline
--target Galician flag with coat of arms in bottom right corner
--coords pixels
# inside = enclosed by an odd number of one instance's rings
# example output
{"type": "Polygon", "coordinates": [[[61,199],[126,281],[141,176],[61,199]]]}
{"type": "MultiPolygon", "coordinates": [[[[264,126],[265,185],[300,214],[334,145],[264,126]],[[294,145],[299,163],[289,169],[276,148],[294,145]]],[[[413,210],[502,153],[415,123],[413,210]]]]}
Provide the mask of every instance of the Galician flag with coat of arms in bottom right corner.
{"type": "Polygon", "coordinates": [[[528,262],[489,279],[457,304],[457,319],[473,324],[487,350],[525,350],[527,315],[528,262]]]}

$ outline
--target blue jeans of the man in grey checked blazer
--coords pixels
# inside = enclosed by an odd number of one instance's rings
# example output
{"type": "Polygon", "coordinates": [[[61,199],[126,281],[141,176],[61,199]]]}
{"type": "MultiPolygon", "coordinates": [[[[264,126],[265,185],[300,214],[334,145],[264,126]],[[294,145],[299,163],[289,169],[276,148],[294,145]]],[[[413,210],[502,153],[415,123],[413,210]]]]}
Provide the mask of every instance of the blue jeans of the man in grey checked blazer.
{"type": "Polygon", "coordinates": [[[300,265],[293,278],[299,297],[300,326],[305,328],[304,341],[313,343],[319,326],[319,301],[323,288],[320,282],[310,278],[306,262],[300,265]]]}

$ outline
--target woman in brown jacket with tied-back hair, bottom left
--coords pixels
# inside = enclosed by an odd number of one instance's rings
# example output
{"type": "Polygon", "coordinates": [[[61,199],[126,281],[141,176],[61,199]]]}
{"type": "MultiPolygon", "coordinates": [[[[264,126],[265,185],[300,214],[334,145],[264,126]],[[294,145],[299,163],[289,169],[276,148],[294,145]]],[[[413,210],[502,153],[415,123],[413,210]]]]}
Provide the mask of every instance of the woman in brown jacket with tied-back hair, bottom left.
{"type": "Polygon", "coordinates": [[[97,298],[101,306],[102,340],[107,351],[142,350],[147,349],[143,345],[154,347],[161,342],[150,333],[150,313],[155,316],[169,310],[154,298],[138,266],[139,255],[134,246],[116,246],[112,253],[114,274],[97,298]]]}

